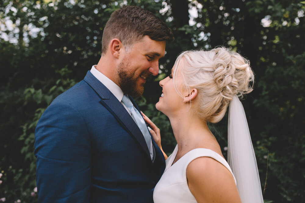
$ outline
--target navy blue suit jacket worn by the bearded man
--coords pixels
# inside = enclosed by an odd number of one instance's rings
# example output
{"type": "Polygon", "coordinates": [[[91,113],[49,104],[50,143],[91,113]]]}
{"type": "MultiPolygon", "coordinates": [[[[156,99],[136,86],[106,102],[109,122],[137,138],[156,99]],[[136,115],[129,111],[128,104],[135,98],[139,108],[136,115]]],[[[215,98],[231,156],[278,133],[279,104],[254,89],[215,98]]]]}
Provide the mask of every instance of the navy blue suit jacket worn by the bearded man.
{"type": "Polygon", "coordinates": [[[165,160],[152,143],[153,161],[137,124],[88,71],[36,126],[38,201],[153,202],[165,160]]]}

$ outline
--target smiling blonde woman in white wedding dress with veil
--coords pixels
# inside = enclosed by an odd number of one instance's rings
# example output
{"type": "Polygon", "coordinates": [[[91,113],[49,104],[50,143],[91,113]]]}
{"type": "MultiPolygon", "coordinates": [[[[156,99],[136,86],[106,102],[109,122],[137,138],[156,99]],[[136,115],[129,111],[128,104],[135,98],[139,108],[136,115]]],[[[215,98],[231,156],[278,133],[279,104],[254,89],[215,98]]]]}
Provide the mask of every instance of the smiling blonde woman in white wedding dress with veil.
{"type": "MultiPolygon", "coordinates": [[[[218,47],[181,53],[160,81],[156,108],[170,119],[177,146],[153,193],[155,203],[263,202],[257,163],[239,97],[252,91],[249,61],[218,47]],[[228,163],[207,123],[229,106],[228,163]]],[[[160,149],[160,130],[143,114],[160,149]]]]}

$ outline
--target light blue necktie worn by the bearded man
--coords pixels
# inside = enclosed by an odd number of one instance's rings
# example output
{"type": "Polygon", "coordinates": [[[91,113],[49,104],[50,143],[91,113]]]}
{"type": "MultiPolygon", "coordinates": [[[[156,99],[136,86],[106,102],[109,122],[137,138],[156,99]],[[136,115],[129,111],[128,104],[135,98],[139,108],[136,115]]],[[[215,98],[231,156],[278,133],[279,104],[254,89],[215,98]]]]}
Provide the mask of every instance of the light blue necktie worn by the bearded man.
{"type": "Polygon", "coordinates": [[[124,94],[123,98],[122,98],[122,102],[128,107],[128,109],[131,111],[131,114],[133,115],[133,117],[135,118],[135,121],[138,125],[138,127],[140,128],[142,134],[144,135],[146,144],[148,149],[150,149],[150,145],[151,145],[151,137],[149,134],[149,131],[147,129],[147,126],[145,124],[145,121],[142,117],[142,115],[140,114],[140,112],[134,107],[134,105],[132,104],[132,102],[130,101],[130,99],[128,98],[128,96],[126,94],[124,94]]]}

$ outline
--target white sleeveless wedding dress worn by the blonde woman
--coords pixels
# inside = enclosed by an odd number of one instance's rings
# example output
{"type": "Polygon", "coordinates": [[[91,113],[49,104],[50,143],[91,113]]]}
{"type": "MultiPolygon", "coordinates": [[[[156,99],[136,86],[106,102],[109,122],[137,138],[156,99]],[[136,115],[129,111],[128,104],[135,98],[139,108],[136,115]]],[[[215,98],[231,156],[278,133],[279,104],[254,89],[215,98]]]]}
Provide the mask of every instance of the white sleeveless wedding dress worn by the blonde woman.
{"type": "Polygon", "coordinates": [[[176,145],[174,152],[165,161],[166,167],[164,173],[153,192],[153,200],[155,203],[197,202],[188,188],[186,168],[192,160],[198,157],[206,156],[215,159],[230,171],[235,180],[229,164],[222,156],[216,152],[204,148],[193,149],[173,164],[177,155],[177,151],[178,145],[176,145]]]}

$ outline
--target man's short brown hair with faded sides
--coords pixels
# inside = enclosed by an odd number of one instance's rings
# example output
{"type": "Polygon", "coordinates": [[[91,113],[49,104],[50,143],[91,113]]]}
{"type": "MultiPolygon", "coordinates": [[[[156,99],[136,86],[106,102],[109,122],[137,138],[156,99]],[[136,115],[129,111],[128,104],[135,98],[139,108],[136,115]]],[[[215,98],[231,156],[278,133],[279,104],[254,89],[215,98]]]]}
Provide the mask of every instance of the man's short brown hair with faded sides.
{"type": "Polygon", "coordinates": [[[102,54],[105,54],[109,42],[117,38],[128,51],[135,42],[147,35],[156,41],[173,41],[170,28],[152,12],[138,6],[123,6],[114,11],[103,31],[102,54]]]}

